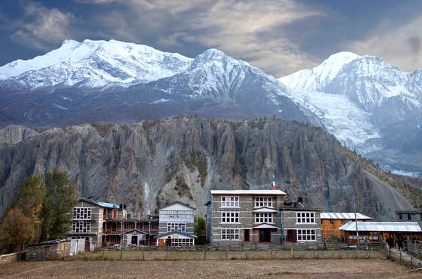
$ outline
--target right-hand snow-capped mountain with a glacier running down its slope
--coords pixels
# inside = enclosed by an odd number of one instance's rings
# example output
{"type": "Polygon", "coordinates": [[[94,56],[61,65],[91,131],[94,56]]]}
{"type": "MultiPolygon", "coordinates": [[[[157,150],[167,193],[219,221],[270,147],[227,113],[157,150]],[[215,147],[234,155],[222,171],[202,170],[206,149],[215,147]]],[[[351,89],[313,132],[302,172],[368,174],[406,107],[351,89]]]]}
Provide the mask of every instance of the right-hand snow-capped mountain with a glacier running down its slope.
{"type": "Polygon", "coordinates": [[[422,141],[421,70],[406,73],[377,56],[339,52],[279,80],[292,89],[289,98],[350,148],[387,169],[422,174],[422,150],[414,149],[422,141]]]}

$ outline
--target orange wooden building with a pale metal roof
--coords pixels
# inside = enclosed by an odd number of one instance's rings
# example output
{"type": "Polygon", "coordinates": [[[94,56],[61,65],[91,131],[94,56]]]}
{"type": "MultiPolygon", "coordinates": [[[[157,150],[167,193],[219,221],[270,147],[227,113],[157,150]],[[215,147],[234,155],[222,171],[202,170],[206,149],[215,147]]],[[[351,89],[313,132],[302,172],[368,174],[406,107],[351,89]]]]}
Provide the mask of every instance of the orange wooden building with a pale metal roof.
{"type": "MultiPolygon", "coordinates": [[[[321,230],[323,239],[331,239],[331,237],[345,238],[345,232],[339,228],[349,222],[355,220],[354,213],[340,213],[340,212],[322,212],[321,213],[321,230]]],[[[358,222],[370,222],[371,217],[356,213],[358,222]]]]}

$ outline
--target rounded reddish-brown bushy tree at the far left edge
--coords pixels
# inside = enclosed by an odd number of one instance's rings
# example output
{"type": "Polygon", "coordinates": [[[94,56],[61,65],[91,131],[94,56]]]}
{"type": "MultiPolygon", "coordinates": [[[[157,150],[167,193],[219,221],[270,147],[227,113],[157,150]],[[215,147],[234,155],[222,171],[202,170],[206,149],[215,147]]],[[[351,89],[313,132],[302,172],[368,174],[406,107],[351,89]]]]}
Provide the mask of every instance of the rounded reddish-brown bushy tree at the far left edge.
{"type": "Polygon", "coordinates": [[[33,224],[29,217],[17,207],[10,209],[0,225],[0,247],[7,252],[16,252],[20,246],[31,241],[33,224]]]}

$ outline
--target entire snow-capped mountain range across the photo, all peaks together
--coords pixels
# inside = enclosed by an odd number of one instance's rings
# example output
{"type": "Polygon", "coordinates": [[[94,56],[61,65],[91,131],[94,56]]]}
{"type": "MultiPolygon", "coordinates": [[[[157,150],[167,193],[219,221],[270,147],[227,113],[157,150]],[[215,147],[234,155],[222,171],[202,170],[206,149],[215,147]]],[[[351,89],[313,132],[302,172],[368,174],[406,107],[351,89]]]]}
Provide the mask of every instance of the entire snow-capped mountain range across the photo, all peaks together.
{"type": "Polygon", "coordinates": [[[0,67],[0,127],[276,115],[414,173],[422,173],[421,103],[422,70],[405,73],[351,52],[280,80],[216,49],[192,59],[115,40],[66,40],[0,67]]]}

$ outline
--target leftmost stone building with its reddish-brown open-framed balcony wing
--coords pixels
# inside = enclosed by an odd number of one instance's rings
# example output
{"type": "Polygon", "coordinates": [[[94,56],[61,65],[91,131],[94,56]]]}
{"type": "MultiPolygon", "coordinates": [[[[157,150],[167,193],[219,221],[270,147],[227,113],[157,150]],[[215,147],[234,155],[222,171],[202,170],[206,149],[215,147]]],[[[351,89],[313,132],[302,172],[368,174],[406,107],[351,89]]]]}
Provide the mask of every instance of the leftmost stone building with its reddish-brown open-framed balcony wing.
{"type": "Polygon", "coordinates": [[[81,198],[73,208],[68,239],[85,239],[85,250],[93,250],[115,244],[148,245],[156,234],[158,216],[133,216],[124,204],[81,198]]]}

